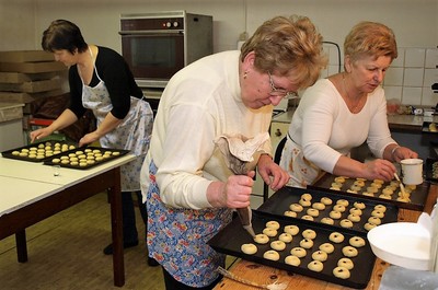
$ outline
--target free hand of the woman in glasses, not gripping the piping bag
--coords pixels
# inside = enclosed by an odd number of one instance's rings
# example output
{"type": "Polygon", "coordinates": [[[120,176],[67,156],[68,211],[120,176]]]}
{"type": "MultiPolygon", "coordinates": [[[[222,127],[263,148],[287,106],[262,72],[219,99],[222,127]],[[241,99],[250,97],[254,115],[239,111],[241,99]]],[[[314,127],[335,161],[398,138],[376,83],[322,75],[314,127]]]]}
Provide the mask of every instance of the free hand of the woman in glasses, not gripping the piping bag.
{"type": "Polygon", "coordinates": [[[273,190],[278,190],[289,182],[289,174],[284,171],[267,154],[262,154],[258,159],[257,170],[263,181],[269,185],[273,190]]]}

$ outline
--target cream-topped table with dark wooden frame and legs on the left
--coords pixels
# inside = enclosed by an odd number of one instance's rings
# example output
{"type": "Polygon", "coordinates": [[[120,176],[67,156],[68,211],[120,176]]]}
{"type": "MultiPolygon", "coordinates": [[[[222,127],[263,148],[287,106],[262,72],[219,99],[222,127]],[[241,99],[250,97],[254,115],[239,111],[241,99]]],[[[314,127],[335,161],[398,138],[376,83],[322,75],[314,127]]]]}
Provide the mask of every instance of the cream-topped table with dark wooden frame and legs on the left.
{"type": "Polygon", "coordinates": [[[0,240],[15,234],[18,260],[27,262],[25,229],[61,210],[110,192],[114,285],[125,285],[119,166],[134,160],[127,154],[89,170],[60,169],[0,158],[0,240]]]}

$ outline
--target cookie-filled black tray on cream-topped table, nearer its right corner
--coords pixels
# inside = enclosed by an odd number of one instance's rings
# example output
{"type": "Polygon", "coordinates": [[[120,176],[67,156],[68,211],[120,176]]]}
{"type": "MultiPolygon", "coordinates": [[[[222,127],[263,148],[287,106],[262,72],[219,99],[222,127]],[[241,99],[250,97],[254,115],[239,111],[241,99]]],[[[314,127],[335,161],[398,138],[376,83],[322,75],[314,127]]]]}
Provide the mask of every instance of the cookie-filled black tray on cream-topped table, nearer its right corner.
{"type": "Polygon", "coordinates": [[[45,165],[60,165],[61,167],[74,170],[88,170],[123,156],[129,150],[108,149],[100,147],[78,148],[62,152],[51,159],[44,161],[45,165]]]}

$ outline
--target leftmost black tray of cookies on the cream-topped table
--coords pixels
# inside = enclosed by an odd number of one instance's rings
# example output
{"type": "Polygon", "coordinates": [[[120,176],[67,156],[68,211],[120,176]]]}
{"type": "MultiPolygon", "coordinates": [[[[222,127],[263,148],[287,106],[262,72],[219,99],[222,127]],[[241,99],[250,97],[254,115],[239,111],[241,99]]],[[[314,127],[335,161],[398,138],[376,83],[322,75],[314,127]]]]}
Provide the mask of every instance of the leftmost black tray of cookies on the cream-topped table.
{"type": "Polygon", "coordinates": [[[73,150],[76,143],[66,141],[43,141],[1,152],[3,158],[23,160],[28,162],[44,162],[62,152],[73,150]]]}

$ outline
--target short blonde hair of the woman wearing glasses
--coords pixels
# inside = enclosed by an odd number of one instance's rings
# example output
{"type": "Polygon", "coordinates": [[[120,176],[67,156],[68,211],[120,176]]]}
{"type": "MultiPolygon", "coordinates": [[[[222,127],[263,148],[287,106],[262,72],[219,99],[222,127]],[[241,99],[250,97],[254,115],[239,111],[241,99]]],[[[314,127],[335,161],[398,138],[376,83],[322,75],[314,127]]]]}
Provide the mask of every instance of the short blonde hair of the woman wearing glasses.
{"type": "Polygon", "coordinates": [[[299,88],[312,85],[327,63],[322,36],[306,16],[276,16],[263,23],[241,48],[241,60],[255,53],[261,72],[286,76],[299,88]]]}

